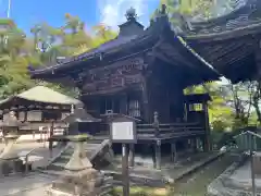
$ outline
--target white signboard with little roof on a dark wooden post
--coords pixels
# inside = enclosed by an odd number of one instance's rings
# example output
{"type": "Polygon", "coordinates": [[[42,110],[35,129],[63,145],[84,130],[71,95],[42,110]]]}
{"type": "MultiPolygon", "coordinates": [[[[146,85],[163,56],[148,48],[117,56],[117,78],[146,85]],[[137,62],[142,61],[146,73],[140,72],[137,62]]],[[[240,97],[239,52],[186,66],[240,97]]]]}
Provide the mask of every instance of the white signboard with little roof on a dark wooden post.
{"type": "Polygon", "coordinates": [[[136,119],[122,115],[111,122],[112,143],[122,144],[123,196],[129,196],[128,145],[137,143],[136,119]]]}

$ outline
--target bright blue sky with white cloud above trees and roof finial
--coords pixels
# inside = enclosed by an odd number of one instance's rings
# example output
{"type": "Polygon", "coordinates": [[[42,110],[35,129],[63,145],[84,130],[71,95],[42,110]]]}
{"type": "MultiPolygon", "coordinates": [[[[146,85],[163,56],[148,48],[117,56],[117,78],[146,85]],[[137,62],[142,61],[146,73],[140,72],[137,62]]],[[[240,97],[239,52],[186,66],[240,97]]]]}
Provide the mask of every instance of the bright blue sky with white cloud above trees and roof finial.
{"type": "MultiPolygon", "coordinates": [[[[11,17],[20,28],[29,28],[39,22],[53,26],[64,23],[64,14],[78,15],[87,28],[99,23],[115,27],[125,21],[125,11],[134,7],[139,21],[148,25],[149,17],[160,0],[11,0],[11,17]]],[[[8,0],[0,0],[0,17],[7,16],[8,0]]]]}

